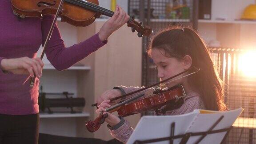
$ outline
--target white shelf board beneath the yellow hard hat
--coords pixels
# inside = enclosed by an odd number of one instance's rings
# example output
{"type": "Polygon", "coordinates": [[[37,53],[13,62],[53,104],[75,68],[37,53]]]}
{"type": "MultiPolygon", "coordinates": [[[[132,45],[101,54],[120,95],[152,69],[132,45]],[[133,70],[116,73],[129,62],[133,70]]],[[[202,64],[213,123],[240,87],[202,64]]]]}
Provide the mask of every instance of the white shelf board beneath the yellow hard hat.
{"type": "Polygon", "coordinates": [[[250,21],[250,20],[198,20],[198,23],[210,23],[210,24],[256,24],[256,21],[250,21]]]}

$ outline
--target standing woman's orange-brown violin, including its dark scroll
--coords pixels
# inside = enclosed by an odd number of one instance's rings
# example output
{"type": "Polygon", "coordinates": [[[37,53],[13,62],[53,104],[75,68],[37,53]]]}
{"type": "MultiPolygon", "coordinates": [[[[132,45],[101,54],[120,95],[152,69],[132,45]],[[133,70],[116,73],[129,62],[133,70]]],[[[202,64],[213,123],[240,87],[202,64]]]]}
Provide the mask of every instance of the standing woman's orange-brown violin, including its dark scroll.
{"type": "MultiPolygon", "coordinates": [[[[42,17],[47,14],[56,14],[61,0],[11,0],[13,13],[21,18],[42,17]]],[[[60,9],[61,21],[77,27],[85,27],[92,24],[100,15],[113,16],[114,12],[99,6],[98,0],[64,0],[60,9]]],[[[134,20],[128,20],[128,27],[132,32],[137,31],[138,36],[149,36],[152,30],[142,26],[134,20]]]]}

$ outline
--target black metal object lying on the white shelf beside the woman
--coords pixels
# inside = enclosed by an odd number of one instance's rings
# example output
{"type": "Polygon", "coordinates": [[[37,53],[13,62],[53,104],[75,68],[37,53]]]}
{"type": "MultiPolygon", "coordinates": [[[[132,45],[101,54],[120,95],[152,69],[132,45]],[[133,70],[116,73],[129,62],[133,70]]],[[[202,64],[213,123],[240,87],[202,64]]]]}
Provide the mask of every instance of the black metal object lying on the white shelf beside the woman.
{"type": "Polygon", "coordinates": [[[70,95],[73,93],[63,92],[63,93],[46,93],[40,92],[38,98],[39,109],[45,112],[48,109],[48,113],[52,114],[51,108],[70,108],[70,113],[81,113],[73,110],[73,107],[84,107],[84,98],[73,98],[70,95]],[[46,95],[63,95],[65,98],[46,98],[46,95]]]}

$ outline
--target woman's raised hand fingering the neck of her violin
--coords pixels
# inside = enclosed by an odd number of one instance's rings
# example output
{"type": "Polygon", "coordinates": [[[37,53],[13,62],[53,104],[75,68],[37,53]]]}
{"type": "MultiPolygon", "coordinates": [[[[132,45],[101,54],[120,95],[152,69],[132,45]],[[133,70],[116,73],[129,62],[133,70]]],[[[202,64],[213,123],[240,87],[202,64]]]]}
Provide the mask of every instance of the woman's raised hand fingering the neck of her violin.
{"type": "Polygon", "coordinates": [[[114,15],[100,28],[100,40],[107,40],[113,32],[115,32],[118,28],[127,23],[129,19],[130,16],[126,14],[126,12],[124,12],[124,10],[121,7],[116,5],[116,11],[114,15]]]}

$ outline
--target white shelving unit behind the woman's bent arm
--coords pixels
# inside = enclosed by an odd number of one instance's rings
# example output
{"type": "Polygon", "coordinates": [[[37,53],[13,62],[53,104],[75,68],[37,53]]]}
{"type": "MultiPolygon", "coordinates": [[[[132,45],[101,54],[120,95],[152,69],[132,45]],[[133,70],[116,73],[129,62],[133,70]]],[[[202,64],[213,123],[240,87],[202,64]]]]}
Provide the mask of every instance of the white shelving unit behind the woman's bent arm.
{"type": "MultiPolygon", "coordinates": [[[[57,24],[60,29],[62,39],[66,47],[70,47],[73,44],[78,43],[78,28],[67,24],[66,22],[60,22],[60,18],[57,19],[57,24]]],[[[40,57],[42,48],[38,52],[40,57]]],[[[43,92],[49,93],[62,93],[70,92],[74,93],[73,97],[76,98],[86,97],[85,94],[79,94],[79,76],[86,75],[91,71],[91,66],[83,63],[76,64],[66,70],[57,71],[52,64],[44,56],[44,67],[42,77],[40,78],[40,85],[43,86],[43,92]]],[[[40,133],[48,133],[52,135],[60,136],[77,136],[77,124],[78,121],[87,121],[90,116],[88,110],[84,110],[82,113],[40,113],[40,133]]]]}

